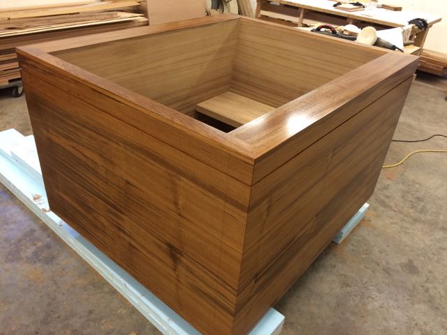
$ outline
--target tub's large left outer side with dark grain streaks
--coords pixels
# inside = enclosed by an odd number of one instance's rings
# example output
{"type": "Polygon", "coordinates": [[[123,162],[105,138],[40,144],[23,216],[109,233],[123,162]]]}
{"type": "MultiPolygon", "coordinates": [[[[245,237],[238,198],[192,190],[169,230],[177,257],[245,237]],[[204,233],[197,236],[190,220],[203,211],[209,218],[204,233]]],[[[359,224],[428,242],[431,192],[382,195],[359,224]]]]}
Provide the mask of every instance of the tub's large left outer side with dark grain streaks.
{"type": "Polygon", "coordinates": [[[126,123],[131,106],[20,62],[50,209],[200,332],[230,334],[249,186],[126,123]]]}

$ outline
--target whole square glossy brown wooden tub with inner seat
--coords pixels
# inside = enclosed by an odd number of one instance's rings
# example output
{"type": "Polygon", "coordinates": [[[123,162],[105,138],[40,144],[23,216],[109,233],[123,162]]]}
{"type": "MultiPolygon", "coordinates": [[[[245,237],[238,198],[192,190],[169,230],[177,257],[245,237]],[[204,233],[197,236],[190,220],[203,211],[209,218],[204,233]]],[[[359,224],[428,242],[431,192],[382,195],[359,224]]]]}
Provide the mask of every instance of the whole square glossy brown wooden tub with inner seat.
{"type": "Polygon", "coordinates": [[[372,195],[418,63],[234,15],[17,52],[52,211],[210,335],[372,195]]]}

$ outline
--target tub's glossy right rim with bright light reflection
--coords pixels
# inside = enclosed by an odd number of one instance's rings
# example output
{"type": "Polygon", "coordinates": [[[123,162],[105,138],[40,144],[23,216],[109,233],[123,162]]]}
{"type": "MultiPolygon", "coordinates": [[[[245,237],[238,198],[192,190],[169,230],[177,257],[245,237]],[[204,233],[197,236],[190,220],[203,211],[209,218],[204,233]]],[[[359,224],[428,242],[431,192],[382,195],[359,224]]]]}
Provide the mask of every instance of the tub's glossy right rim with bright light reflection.
{"type": "Polygon", "coordinates": [[[385,54],[232,131],[254,149],[252,184],[404,82],[417,66],[418,57],[385,54]]]}

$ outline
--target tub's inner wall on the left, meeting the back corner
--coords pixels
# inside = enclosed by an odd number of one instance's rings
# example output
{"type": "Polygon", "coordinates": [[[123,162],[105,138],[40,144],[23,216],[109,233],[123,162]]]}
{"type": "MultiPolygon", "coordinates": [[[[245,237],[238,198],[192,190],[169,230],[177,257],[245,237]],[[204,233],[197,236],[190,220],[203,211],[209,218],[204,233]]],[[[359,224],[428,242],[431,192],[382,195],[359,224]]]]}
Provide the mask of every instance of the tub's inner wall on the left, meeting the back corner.
{"type": "Polygon", "coordinates": [[[179,112],[230,89],[237,20],[54,52],[179,112]]]}

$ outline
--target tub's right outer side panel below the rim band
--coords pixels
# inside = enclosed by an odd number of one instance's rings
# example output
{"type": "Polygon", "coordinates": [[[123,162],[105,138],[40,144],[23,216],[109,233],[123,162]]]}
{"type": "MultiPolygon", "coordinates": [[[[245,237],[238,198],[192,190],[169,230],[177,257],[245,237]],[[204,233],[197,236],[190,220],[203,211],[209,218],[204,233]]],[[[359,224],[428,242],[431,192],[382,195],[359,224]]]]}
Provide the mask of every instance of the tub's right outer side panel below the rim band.
{"type": "Polygon", "coordinates": [[[284,295],[372,195],[412,80],[253,186],[236,334],[284,295]]]}

